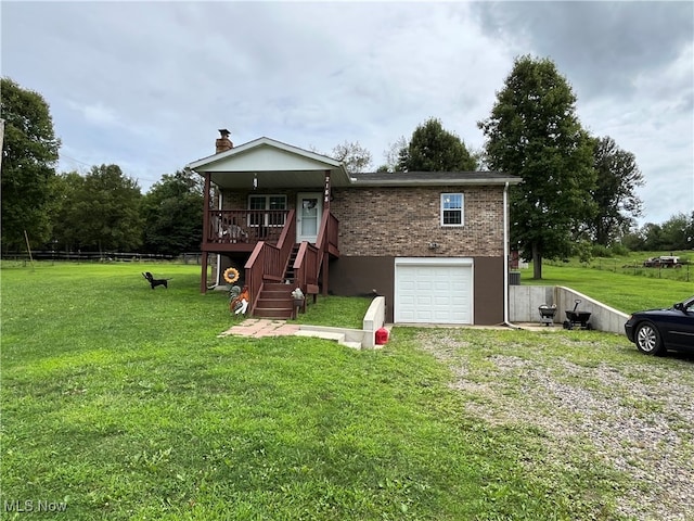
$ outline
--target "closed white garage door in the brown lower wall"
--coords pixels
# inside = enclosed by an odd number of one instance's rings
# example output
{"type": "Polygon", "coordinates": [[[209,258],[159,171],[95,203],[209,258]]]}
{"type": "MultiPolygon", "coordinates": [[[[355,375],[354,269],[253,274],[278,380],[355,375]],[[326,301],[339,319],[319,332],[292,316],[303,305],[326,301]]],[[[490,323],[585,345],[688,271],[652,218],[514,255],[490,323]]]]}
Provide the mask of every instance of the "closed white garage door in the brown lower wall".
{"type": "Polygon", "coordinates": [[[396,258],[395,321],[473,323],[472,258],[396,258]]]}

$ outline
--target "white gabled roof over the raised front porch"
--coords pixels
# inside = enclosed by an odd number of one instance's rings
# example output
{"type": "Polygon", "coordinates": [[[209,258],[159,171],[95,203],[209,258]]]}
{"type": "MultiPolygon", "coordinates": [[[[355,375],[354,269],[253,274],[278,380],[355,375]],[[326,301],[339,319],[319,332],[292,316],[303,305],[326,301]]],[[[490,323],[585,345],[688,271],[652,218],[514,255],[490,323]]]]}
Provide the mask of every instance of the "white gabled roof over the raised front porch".
{"type": "Polygon", "coordinates": [[[210,174],[220,188],[344,187],[350,179],[342,162],[270,138],[258,138],[231,150],[190,163],[187,168],[210,174]]]}

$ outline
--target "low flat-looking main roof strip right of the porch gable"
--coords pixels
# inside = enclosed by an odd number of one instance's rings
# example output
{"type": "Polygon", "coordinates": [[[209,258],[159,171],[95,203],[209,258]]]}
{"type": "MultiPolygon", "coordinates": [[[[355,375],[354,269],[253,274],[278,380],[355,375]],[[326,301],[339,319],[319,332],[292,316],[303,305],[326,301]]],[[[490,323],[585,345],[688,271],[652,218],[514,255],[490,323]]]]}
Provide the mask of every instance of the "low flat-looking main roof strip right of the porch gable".
{"type": "Polygon", "coordinates": [[[522,178],[502,171],[372,171],[351,174],[352,186],[409,187],[447,185],[517,185],[522,178]]]}

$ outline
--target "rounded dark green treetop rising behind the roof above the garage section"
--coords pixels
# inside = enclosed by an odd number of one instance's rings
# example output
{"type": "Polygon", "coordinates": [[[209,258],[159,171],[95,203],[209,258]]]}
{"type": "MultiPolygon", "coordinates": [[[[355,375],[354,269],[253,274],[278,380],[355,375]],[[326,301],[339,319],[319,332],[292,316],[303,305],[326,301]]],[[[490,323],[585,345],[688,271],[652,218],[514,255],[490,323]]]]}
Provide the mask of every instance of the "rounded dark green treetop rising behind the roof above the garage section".
{"type": "Polygon", "coordinates": [[[414,129],[398,158],[402,171],[467,171],[476,166],[465,143],[434,117],[414,129]]]}

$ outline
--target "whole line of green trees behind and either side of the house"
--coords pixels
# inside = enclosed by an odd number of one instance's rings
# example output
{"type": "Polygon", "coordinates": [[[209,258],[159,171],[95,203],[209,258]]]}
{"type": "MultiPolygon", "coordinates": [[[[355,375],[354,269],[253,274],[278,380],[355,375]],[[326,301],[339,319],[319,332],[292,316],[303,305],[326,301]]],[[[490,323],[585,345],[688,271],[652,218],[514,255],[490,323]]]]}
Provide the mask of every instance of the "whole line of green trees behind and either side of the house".
{"type": "MultiPolygon", "coordinates": [[[[2,78],[2,249],[139,251],[180,254],[202,242],[202,178],[165,174],[145,194],[117,165],[56,174],[60,139],[38,92],[2,78]]],[[[518,176],[510,189],[511,242],[534,260],[590,250],[693,247],[694,212],[637,227],[643,176],[633,153],[609,136],[591,136],[576,114],[576,96],[549,59],[516,58],[488,118],[485,144],[472,150],[430,117],[385,151],[378,171],[489,169],[518,176]]],[[[373,169],[371,153],[345,141],[330,155],[350,171],[373,169]]]]}

